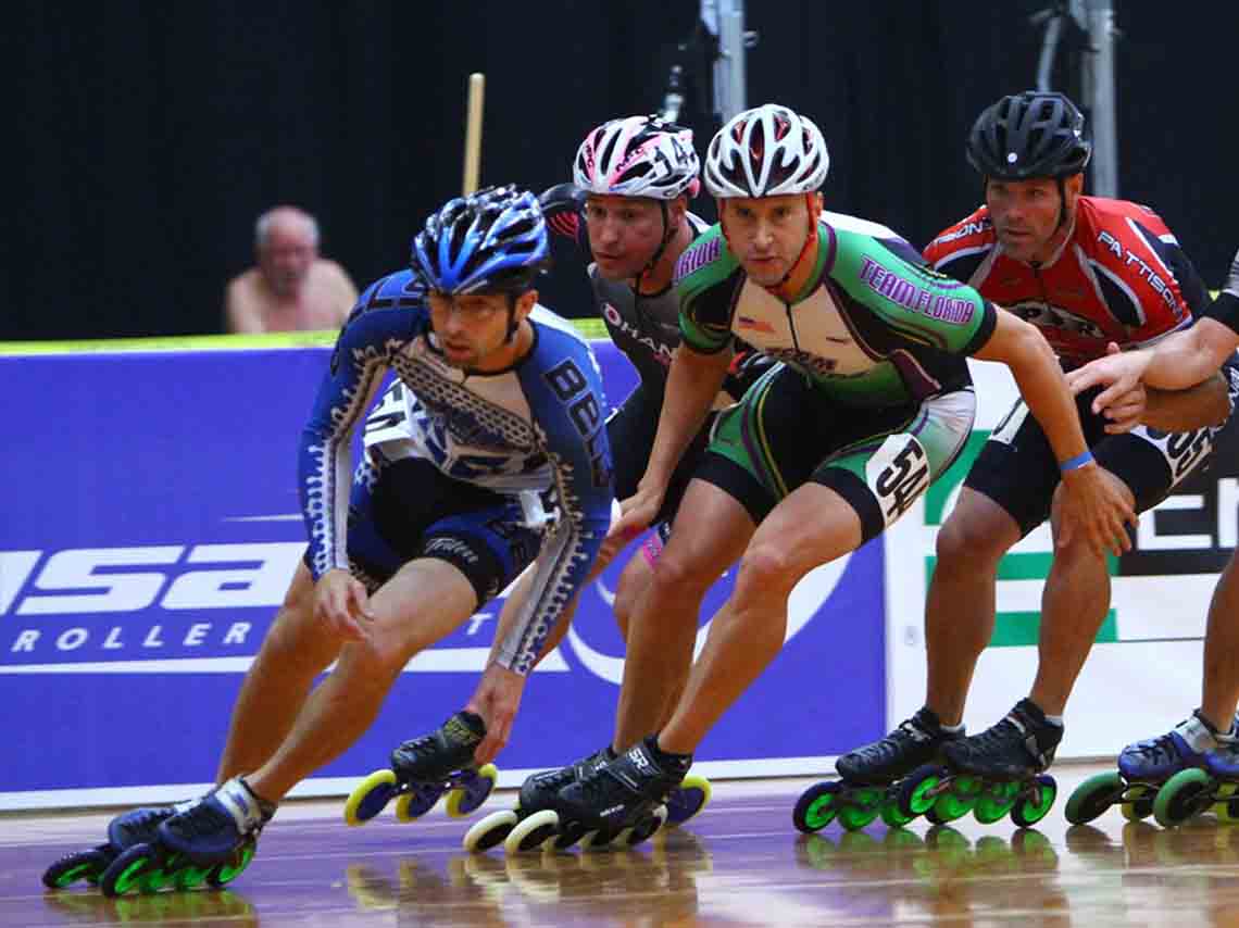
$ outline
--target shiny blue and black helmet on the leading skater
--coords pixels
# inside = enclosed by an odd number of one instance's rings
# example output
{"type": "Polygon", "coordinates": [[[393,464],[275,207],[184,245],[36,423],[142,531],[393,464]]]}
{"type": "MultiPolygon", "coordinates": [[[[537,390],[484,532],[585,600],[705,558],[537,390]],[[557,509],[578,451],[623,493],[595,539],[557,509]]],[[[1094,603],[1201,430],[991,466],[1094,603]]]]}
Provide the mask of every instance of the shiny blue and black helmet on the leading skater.
{"type": "Polygon", "coordinates": [[[413,239],[413,270],[453,296],[522,294],[549,264],[538,197],[513,185],[449,201],[413,239]]]}

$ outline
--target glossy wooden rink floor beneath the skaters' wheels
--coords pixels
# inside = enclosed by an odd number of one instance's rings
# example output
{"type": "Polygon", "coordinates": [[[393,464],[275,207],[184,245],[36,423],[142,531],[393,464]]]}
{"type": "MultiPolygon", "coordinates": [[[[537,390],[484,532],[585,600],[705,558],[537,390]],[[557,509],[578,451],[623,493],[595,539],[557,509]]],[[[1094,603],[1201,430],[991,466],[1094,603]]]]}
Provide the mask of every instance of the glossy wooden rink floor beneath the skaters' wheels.
{"type": "Polygon", "coordinates": [[[1059,799],[1036,829],[968,818],[800,835],[790,809],[813,781],[748,781],[716,784],[698,819],[637,850],[522,857],[465,854],[468,823],[439,810],[349,829],[339,803],[289,804],[234,888],[123,900],[40,883],[51,860],[102,839],[107,815],[12,815],[0,924],[1239,927],[1239,826],[1168,831],[1118,809],[1068,826],[1066,797],[1097,769],[1056,769],[1059,799]]]}

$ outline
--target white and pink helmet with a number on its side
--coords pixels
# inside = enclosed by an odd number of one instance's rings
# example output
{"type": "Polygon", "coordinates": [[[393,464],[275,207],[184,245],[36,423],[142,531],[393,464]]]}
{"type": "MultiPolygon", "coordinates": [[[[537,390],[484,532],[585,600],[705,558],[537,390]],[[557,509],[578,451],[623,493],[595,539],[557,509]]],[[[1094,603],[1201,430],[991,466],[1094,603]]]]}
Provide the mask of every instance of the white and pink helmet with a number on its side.
{"type": "Polygon", "coordinates": [[[586,193],[675,199],[696,196],[700,170],[691,129],[659,116],[627,116],[585,136],[572,183],[586,193]]]}

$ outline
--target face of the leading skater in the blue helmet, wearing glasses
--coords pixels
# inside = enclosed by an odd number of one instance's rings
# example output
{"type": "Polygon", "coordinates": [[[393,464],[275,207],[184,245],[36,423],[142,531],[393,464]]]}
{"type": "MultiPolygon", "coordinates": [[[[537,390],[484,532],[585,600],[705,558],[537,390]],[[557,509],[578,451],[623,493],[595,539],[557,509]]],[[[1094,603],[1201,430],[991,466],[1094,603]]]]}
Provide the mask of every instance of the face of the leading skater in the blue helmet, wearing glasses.
{"type": "Polygon", "coordinates": [[[508,337],[509,315],[515,313],[519,326],[538,302],[538,291],[529,290],[514,300],[507,294],[449,296],[431,291],[429,300],[430,323],[444,359],[461,369],[494,370],[517,359],[519,339],[508,337]]]}

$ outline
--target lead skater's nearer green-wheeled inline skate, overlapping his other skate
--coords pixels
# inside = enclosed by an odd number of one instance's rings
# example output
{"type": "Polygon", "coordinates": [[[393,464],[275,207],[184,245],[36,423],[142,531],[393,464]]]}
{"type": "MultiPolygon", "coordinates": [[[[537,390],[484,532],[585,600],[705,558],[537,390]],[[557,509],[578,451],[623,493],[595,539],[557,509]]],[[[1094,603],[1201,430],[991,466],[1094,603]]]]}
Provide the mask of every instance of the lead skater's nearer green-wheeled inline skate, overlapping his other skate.
{"type": "Polygon", "coordinates": [[[258,835],[275,805],[256,797],[240,777],[161,821],[154,841],[123,851],[99,878],[104,896],[171,886],[224,886],[249,866],[258,835]]]}

